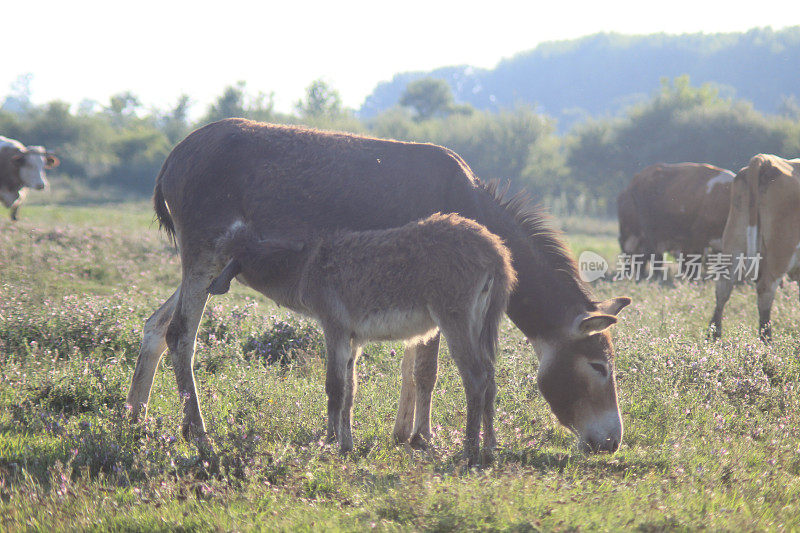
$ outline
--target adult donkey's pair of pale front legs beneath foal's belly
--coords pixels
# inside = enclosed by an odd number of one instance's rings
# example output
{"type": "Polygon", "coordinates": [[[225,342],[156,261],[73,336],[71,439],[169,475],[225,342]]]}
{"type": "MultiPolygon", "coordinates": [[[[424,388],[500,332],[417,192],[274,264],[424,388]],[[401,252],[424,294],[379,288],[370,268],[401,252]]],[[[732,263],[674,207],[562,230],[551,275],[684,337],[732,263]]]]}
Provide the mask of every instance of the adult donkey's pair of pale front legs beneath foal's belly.
{"type": "Polygon", "coordinates": [[[427,433],[423,436],[430,438],[430,398],[436,385],[438,356],[439,334],[428,342],[406,346],[401,365],[400,401],[392,432],[395,442],[407,442],[411,438],[415,429],[415,413],[423,406],[423,412],[427,413],[424,415],[427,424],[422,423],[420,427],[427,427],[427,433]]]}

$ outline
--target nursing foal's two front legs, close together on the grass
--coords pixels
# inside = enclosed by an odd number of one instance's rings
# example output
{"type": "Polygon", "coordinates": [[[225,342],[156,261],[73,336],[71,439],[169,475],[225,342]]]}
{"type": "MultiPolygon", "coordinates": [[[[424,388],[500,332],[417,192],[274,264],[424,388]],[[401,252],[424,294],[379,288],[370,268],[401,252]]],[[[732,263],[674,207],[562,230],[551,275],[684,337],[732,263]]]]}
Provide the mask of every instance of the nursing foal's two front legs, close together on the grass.
{"type": "MultiPolygon", "coordinates": [[[[346,393],[347,364],[353,352],[350,337],[340,328],[323,325],[325,347],[327,349],[327,368],[325,394],[328,396],[328,442],[339,441],[344,450],[341,435],[342,406],[346,393]]],[[[352,438],[351,443],[352,447],[352,438]]]]}

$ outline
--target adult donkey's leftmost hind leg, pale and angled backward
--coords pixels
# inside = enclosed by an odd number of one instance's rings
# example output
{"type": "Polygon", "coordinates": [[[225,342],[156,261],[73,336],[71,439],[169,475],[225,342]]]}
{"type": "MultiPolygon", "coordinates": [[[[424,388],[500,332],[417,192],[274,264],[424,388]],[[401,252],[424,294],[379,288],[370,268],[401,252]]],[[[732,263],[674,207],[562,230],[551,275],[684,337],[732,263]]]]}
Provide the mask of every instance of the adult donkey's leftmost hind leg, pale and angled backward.
{"type": "Polygon", "coordinates": [[[138,420],[140,415],[147,414],[150,390],[153,388],[153,379],[158,363],[167,349],[167,326],[172,320],[179,292],[180,289],[176,290],[144,324],[142,345],[139,349],[139,357],[136,359],[136,369],[133,372],[126,402],[134,421],[138,420]]]}

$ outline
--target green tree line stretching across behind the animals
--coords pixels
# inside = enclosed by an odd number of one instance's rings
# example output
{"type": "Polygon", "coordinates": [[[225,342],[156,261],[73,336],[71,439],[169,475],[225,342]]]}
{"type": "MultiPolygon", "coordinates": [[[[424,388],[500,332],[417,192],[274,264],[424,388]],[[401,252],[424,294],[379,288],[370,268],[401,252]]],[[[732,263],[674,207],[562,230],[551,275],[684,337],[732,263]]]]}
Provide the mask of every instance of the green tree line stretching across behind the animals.
{"type": "MultiPolygon", "coordinates": [[[[686,76],[665,79],[646,101],[566,133],[531,106],[490,112],[457,104],[449,85],[433,78],[409,83],[396,106],[363,120],[322,80],[312,82],[288,114],[275,111],[273,94],[253,93],[240,82],[227,87],[199,120],[190,119],[186,95],[163,110],[145,109],[130,92],[104,105],[33,105],[22,85],[12,87],[0,108],[0,135],[57,152],[62,165],[55,175],[76,190],[139,196],[152,191],[177,142],[226,117],[440,144],[458,152],[482,179],[508,181],[564,213],[611,214],[633,174],[656,162],[737,170],[760,152],[800,155],[800,106],[789,101],[779,114],[767,115],[711,84],[694,86],[686,76]]],[[[82,200],[76,193],[74,201],[82,200]]]]}

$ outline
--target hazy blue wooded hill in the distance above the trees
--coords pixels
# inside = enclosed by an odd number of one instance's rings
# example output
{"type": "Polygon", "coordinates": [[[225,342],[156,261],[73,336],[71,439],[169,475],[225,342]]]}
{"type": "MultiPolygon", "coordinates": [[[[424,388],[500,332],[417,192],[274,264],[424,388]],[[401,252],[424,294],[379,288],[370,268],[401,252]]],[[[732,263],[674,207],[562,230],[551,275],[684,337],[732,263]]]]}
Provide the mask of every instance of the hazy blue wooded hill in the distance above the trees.
{"type": "Polygon", "coordinates": [[[489,110],[536,105],[563,130],[587,115],[617,113],[650,96],[662,78],[684,74],[692,85],[711,82],[724,96],[776,113],[786,98],[800,101],[800,26],[719,34],[600,33],[543,43],[494,69],[453,66],[397,74],[378,84],[359,113],[375,116],[394,106],[410,81],[431,76],[447,81],[459,103],[489,110]]]}

